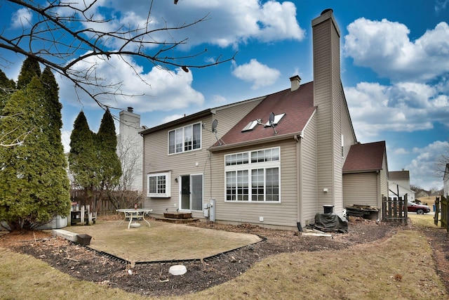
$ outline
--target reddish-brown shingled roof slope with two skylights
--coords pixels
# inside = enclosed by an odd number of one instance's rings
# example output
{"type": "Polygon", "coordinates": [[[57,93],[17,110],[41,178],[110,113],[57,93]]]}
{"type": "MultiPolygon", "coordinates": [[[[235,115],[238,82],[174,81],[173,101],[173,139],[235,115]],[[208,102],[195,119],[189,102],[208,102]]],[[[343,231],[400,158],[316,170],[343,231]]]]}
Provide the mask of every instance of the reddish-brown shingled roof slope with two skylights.
{"type": "MultiPolygon", "coordinates": [[[[261,141],[265,138],[272,138],[274,135],[290,136],[293,133],[300,133],[314,113],[313,98],[313,82],[301,84],[295,91],[286,89],[265,96],[264,100],[225,133],[220,141],[224,145],[234,145],[261,141]],[[272,112],[274,115],[285,114],[274,127],[276,132],[270,126],[265,126],[272,112]],[[259,122],[255,124],[254,121],[257,120],[259,122]],[[254,126],[249,126],[251,129],[248,129],[249,124],[254,124],[254,126]]],[[[219,145],[215,143],[211,148],[217,147],[219,145]]]]}

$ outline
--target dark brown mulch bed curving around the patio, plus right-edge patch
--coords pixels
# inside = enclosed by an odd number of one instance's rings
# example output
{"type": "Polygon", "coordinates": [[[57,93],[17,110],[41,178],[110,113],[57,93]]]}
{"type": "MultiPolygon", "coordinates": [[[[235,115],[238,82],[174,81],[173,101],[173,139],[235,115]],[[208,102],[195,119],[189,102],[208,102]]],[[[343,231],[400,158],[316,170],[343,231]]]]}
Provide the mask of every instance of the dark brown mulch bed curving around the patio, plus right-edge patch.
{"type": "MultiPolygon", "coordinates": [[[[204,261],[184,262],[182,264],[187,267],[187,273],[178,276],[168,273],[168,268],[174,263],[150,263],[130,268],[114,257],[100,255],[87,247],[67,242],[60,237],[51,237],[42,232],[3,235],[0,237],[0,246],[32,255],[80,280],[110,285],[146,296],[179,296],[198,292],[236,278],[267,256],[346,249],[356,244],[366,244],[391,237],[398,230],[398,227],[388,223],[376,223],[364,219],[350,221],[349,233],[333,234],[333,239],[305,237],[293,231],[270,230],[248,224],[230,226],[199,222],[192,226],[251,233],[264,237],[264,240],[204,261]]],[[[413,228],[413,226],[408,227],[413,228]]],[[[422,232],[427,236],[434,250],[434,259],[438,261],[438,275],[441,276],[449,291],[448,235],[445,230],[436,228],[429,228],[422,232]]]]}

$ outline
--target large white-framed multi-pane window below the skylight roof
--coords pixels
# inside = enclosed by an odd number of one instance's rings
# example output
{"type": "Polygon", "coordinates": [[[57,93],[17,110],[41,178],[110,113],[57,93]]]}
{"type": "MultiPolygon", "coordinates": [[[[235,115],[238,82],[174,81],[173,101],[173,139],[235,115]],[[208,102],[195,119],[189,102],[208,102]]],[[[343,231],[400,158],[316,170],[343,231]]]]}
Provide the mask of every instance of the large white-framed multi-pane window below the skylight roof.
{"type": "Polygon", "coordinates": [[[280,148],[225,155],[226,201],[280,202],[280,148]]]}

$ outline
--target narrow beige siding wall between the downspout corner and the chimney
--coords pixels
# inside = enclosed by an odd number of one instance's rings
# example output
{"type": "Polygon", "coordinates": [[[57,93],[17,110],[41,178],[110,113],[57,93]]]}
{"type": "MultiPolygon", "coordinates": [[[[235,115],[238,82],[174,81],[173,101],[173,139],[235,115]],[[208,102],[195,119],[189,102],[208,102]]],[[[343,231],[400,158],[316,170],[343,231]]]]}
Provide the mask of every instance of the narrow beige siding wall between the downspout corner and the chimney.
{"type": "Polygon", "coordinates": [[[300,140],[300,194],[302,211],[300,221],[303,225],[314,223],[315,214],[321,212],[316,204],[316,114],[312,116],[300,140]]]}

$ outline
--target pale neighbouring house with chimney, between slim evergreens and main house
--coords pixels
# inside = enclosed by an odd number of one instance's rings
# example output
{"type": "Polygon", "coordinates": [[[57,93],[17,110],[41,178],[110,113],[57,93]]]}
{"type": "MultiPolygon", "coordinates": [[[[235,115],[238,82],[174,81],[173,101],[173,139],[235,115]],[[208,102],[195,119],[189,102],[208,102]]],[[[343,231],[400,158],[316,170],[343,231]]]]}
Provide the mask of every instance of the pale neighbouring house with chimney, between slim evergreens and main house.
{"type": "Polygon", "coordinates": [[[140,126],[140,115],[133,107],[119,113],[119,134],[117,135],[117,155],[119,156],[122,176],[121,185],[124,190],[142,192],[142,155],[143,138],[140,131],[147,129],[140,126]]]}

